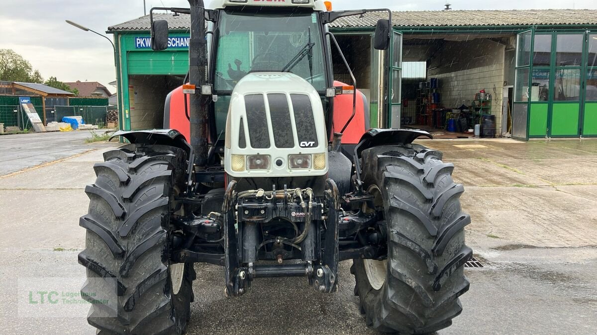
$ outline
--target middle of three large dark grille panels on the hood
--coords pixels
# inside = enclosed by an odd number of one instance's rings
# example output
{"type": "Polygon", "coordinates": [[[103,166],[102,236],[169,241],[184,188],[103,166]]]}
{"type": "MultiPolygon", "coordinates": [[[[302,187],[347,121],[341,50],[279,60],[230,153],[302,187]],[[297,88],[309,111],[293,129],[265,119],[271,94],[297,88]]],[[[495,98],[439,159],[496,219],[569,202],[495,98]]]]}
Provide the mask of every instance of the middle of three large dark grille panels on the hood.
{"type": "Polygon", "coordinates": [[[290,108],[285,94],[268,94],[269,115],[272,119],[273,142],[276,148],[294,148],[290,108]]]}

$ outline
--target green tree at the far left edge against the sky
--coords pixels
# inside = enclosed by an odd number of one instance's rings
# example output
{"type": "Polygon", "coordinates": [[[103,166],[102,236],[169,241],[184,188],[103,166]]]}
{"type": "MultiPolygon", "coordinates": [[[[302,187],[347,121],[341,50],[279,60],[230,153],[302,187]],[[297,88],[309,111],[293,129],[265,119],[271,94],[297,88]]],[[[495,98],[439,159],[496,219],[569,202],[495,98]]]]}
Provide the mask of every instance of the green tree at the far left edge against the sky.
{"type": "Polygon", "coordinates": [[[34,83],[44,81],[39,71],[33,71],[29,61],[12,49],[0,49],[0,80],[34,83]]]}

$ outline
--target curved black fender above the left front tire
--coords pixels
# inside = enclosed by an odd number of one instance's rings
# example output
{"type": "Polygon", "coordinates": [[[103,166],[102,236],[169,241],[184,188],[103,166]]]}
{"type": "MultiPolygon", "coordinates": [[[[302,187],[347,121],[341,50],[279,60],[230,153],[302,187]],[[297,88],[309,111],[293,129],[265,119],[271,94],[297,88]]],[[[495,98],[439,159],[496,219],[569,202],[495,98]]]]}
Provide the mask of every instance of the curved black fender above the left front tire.
{"type": "Polygon", "coordinates": [[[192,154],[192,147],[186,141],[183,134],[180,134],[176,129],[147,129],[143,131],[117,131],[110,139],[117,136],[122,136],[128,139],[129,142],[135,144],[159,144],[171,145],[173,147],[181,148],[186,151],[187,157],[192,154]]]}

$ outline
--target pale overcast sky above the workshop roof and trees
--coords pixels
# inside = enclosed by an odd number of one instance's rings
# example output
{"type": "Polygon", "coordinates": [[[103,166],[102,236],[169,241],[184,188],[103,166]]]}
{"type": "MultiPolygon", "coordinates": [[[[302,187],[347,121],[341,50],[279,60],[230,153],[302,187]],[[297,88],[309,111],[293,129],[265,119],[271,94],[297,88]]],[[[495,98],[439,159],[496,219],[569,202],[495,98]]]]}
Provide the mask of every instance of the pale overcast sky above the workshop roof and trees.
{"type": "MultiPolygon", "coordinates": [[[[205,1],[206,4],[210,0],[205,1]]],[[[333,0],[334,10],[391,8],[392,10],[441,10],[445,0],[333,0]]],[[[597,9],[596,0],[452,0],[454,10],[524,10],[549,8],[597,9]]],[[[186,0],[146,0],[155,7],[188,7],[186,0]]],[[[1,0],[0,48],[14,49],[38,69],[44,79],[63,82],[115,80],[112,46],[106,39],[76,29],[75,21],[97,32],[143,15],[143,0],[1,0]]],[[[466,20],[466,18],[463,18],[466,20]]],[[[112,35],[107,35],[112,38],[112,35]]],[[[115,88],[109,86],[110,91],[115,88]]]]}

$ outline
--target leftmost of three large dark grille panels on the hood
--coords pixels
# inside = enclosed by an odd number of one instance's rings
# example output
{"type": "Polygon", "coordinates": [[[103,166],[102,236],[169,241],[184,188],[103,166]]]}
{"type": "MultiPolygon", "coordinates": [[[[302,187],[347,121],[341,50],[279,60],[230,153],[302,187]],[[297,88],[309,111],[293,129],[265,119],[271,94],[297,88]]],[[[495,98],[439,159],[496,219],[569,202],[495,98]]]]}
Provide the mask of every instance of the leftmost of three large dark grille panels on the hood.
{"type": "Polygon", "coordinates": [[[251,147],[256,149],[269,148],[269,131],[267,129],[263,94],[245,95],[245,108],[247,108],[247,126],[251,147]]]}

